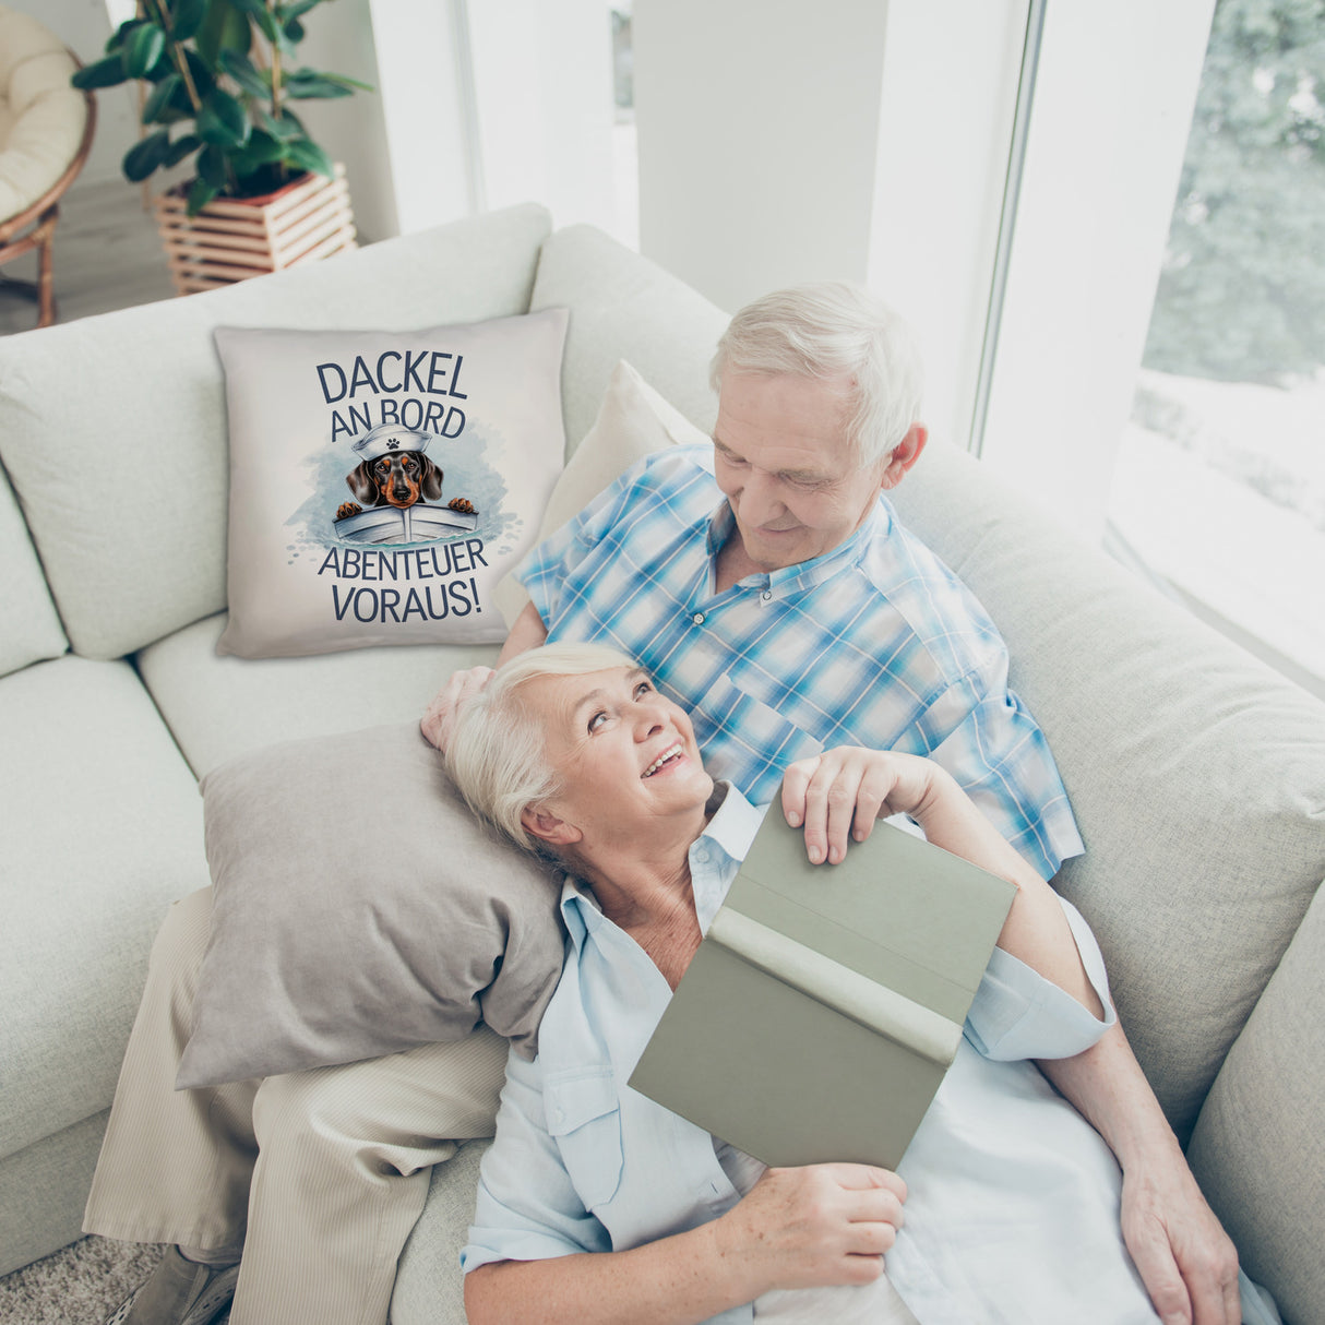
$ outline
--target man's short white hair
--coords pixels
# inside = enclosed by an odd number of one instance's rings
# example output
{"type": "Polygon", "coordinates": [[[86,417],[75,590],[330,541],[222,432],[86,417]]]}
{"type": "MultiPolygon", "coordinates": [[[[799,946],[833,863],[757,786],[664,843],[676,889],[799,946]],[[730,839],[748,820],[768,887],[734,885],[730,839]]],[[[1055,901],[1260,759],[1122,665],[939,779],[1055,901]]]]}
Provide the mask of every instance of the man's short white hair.
{"type": "Polygon", "coordinates": [[[924,370],[902,318],[844,281],[795,285],[747,303],[731,319],[709,368],[851,382],[847,440],[863,465],[882,460],[920,419],[924,370]]]}

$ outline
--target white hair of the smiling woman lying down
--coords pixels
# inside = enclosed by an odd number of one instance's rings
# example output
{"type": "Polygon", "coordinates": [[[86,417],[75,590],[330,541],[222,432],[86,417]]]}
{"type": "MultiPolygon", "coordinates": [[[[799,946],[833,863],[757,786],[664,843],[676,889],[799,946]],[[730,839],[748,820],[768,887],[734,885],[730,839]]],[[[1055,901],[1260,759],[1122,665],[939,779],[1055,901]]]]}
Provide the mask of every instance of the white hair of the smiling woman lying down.
{"type": "Polygon", "coordinates": [[[457,709],[447,743],[447,770],[469,808],[521,847],[539,851],[521,815],[555,796],[560,778],[547,761],[543,730],[521,690],[543,676],[584,676],[635,665],[606,644],[545,644],[498,668],[488,685],[457,709]]]}

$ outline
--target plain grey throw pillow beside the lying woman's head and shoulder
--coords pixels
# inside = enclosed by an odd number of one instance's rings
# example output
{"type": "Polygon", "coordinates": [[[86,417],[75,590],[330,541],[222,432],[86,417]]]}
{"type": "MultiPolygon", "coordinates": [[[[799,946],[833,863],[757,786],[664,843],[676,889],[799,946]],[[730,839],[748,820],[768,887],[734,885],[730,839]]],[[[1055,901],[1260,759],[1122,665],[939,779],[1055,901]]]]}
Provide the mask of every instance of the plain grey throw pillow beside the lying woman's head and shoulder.
{"type": "Polygon", "coordinates": [[[489,836],[416,723],[244,755],[203,780],[212,933],[179,1085],[456,1040],[533,1045],[559,876],[489,836]]]}

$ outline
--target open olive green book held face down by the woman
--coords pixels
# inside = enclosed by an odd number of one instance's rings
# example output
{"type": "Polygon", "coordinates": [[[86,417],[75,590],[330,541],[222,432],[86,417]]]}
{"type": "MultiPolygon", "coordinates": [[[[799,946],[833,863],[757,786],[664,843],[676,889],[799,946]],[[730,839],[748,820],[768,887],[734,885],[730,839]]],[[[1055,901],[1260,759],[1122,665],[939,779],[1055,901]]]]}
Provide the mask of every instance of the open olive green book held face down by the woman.
{"type": "Polygon", "coordinates": [[[811,865],[774,804],[629,1084],[768,1165],[896,1169],[1015,894],[888,823],[811,865]]]}

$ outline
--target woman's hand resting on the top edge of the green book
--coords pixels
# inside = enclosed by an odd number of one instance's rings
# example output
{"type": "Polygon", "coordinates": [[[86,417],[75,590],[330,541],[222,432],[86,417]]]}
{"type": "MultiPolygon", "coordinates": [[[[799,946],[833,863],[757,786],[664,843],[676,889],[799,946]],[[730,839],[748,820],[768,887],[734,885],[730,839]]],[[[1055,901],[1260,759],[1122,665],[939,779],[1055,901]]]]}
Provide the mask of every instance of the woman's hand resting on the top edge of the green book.
{"type": "Polygon", "coordinates": [[[913,754],[837,746],[798,759],[782,780],[782,811],[792,828],[806,825],[812,864],[839,864],[848,837],[864,841],[876,819],[920,815],[946,774],[913,754]]]}

